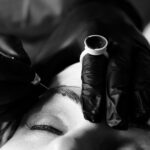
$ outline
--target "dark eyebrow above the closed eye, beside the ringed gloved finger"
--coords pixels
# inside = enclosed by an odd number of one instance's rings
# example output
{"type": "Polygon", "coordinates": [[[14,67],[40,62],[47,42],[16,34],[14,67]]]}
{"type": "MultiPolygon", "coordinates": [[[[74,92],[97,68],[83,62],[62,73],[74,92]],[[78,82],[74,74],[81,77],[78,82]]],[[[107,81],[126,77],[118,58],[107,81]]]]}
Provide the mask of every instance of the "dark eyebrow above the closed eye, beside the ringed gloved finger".
{"type": "Polygon", "coordinates": [[[67,96],[70,100],[73,100],[77,104],[81,104],[80,96],[75,93],[72,88],[78,88],[78,87],[73,87],[73,86],[58,86],[58,87],[53,87],[50,88],[46,94],[45,98],[51,97],[55,94],[61,94],[62,96],[67,96]]]}

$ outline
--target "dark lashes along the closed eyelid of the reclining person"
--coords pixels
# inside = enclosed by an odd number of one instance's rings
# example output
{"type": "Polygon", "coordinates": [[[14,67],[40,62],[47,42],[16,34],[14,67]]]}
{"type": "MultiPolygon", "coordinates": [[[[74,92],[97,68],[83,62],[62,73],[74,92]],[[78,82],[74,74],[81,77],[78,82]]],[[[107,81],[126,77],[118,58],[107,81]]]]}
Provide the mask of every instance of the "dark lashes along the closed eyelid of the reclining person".
{"type": "Polygon", "coordinates": [[[27,125],[27,127],[30,129],[30,130],[41,130],[41,131],[47,131],[47,132],[50,132],[50,133],[53,133],[55,135],[63,135],[63,132],[60,131],[59,129],[56,129],[55,127],[53,126],[50,126],[50,125],[32,125],[32,126],[29,126],[27,125]]]}

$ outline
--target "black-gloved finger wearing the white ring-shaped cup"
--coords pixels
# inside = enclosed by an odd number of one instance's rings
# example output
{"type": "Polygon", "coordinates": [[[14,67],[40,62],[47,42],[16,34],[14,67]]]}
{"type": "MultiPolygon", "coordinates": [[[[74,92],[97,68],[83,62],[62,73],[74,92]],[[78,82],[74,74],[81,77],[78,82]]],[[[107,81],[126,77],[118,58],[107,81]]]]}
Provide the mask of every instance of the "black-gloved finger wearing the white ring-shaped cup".
{"type": "MultiPolygon", "coordinates": [[[[103,40],[100,36],[93,35],[86,39],[86,44],[93,52],[106,46],[106,41],[103,40]]],[[[86,48],[84,52],[86,52],[86,48]]],[[[100,122],[105,116],[105,77],[108,60],[103,53],[96,56],[93,54],[85,54],[81,61],[81,102],[83,114],[91,122],[100,122]]]]}

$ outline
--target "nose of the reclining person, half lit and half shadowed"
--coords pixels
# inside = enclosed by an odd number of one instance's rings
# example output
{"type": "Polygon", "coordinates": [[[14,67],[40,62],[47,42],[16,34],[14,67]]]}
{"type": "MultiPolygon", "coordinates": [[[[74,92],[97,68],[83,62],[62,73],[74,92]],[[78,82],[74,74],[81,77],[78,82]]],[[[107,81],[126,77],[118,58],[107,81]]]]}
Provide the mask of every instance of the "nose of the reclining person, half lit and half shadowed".
{"type": "Polygon", "coordinates": [[[94,150],[99,139],[96,125],[90,122],[82,124],[66,135],[56,138],[44,150],[94,150]]]}

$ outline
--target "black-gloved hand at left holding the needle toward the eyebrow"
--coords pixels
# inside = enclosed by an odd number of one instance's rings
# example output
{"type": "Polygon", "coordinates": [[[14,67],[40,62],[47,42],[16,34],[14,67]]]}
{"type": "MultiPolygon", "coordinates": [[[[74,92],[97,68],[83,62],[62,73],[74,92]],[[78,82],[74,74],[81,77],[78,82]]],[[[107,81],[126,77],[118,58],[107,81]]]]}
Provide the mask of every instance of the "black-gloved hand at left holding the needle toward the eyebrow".
{"type": "Polygon", "coordinates": [[[17,119],[38,99],[42,87],[35,76],[21,41],[1,35],[0,123],[17,119]]]}

